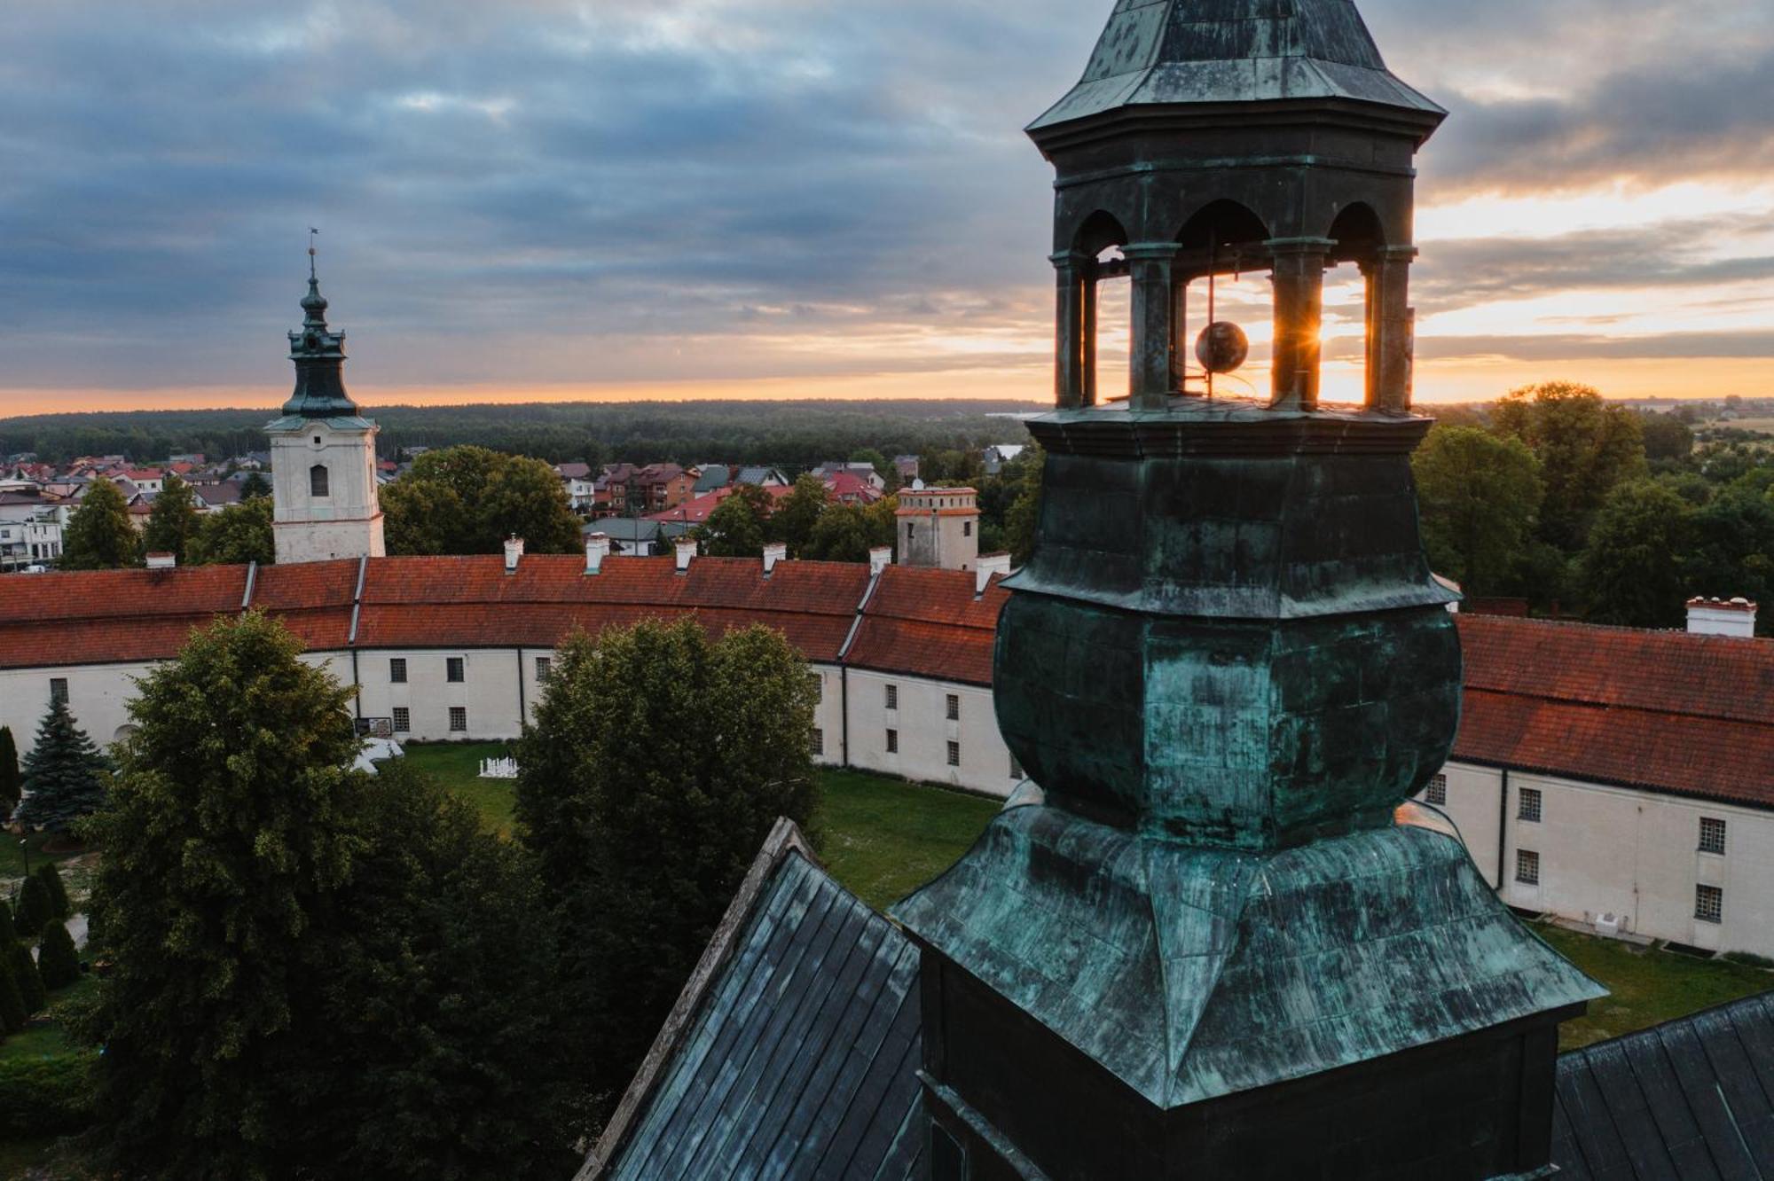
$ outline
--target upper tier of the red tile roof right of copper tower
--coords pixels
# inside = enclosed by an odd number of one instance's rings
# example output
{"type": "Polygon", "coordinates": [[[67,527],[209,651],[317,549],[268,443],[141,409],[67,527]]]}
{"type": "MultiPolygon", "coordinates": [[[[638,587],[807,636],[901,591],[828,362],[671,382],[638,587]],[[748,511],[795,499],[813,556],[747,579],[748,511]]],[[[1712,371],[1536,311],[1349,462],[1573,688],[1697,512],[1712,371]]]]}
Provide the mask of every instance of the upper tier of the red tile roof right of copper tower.
{"type": "Polygon", "coordinates": [[[1460,642],[1469,690],[1769,722],[1769,642],[1495,615],[1460,615],[1460,642]]]}

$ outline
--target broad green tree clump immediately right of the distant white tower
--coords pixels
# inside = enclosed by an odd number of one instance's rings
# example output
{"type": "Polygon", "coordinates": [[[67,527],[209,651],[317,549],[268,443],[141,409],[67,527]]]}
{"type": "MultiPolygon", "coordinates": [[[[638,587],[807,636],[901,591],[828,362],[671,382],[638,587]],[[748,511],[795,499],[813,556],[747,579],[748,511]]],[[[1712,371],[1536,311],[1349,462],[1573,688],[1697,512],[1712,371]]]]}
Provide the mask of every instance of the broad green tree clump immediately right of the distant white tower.
{"type": "Polygon", "coordinates": [[[486,447],[445,447],[381,489],[389,553],[498,553],[523,537],[530,553],[575,553],[580,521],[541,459],[486,447]]]}

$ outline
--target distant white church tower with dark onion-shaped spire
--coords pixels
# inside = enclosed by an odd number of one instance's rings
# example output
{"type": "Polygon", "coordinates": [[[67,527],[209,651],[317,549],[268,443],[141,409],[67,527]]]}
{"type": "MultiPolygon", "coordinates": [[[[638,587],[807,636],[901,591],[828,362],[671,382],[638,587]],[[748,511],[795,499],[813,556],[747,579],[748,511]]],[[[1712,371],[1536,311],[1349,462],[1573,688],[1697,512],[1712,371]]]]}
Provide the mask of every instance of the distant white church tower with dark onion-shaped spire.
{"type": "Polygon", "coordinates": [[[296,392],[264,427],[271,436],[277,562],[381,557],[376,424],[344,392],[344,333],[326,328],[326,298],[309,248],[305,317],[289,333],[296,392]]]}

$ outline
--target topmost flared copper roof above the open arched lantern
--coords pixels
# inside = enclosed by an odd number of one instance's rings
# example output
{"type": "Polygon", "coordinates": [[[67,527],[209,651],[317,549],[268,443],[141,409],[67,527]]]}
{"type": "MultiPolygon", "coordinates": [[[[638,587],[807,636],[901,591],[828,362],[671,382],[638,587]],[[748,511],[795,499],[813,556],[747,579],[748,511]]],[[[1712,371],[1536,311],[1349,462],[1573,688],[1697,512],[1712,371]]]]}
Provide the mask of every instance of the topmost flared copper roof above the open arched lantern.
{"type": "Polygon", "coordinates": [[[1031,131],[1126,106],[1346,99],[1432,115],[1352,0],[1119,0],[1084,78],[1031,131]]]}

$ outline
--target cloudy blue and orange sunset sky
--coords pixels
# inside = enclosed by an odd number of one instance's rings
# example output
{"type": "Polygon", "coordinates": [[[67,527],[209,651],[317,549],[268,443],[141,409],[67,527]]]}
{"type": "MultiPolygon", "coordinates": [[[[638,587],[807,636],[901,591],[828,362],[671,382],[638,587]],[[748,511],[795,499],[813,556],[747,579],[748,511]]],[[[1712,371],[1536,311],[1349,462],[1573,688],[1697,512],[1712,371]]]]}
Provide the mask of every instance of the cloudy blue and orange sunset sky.
{"type": "MultiPolygon", "coordinates": [[[[275,403],[309,225],[371,403],[1047,397],[1020,128],[1109,7],[0,5],[0,413],[275,403]]],[[[1361,7],[1453,110],[1419,158],[1419,399],[1774,394],[1774,4],[1361,7]]]]}

